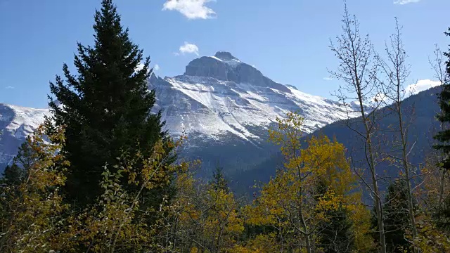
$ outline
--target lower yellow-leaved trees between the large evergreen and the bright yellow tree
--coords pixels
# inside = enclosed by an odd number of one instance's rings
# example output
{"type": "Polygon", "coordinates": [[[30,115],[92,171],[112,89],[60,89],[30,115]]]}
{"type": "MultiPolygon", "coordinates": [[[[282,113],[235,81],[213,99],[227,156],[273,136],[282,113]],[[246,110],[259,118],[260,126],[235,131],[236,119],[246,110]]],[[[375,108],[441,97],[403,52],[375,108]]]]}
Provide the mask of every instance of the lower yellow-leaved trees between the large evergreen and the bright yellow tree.
{"type": "Polygon", "coordinates": [[[239,205],[229,190],[195,179],[189,171],[175,182],[167,234],[180,252],[227,252],[244,230],[239,205]]]}

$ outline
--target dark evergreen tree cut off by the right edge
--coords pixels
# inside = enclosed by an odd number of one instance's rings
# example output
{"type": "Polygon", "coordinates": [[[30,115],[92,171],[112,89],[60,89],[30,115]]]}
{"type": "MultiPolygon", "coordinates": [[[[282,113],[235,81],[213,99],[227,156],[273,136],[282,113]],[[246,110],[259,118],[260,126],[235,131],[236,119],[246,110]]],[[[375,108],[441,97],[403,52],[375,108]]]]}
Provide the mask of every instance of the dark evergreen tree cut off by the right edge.
{"type": "MultiPolygon", "coordinates": [[[[450,27],[449,32],[445,34],[446,36],[450,36],[450,27]]],[[[444,78],[442,83],[442,91],[438,94],[441,112],[437,115],[437,119],[442,123],[443,127],[442,131],[439,131],[434,137],[439,141],[439,144],[435,145],[435,148],[441,150],[444,155],[441,167],[450,169],[450,82],[448,78],[450,76],[450,51],[444,53],[444,56],[449,58],[449,60],[446,61],[446,78],[444,78]]]]}

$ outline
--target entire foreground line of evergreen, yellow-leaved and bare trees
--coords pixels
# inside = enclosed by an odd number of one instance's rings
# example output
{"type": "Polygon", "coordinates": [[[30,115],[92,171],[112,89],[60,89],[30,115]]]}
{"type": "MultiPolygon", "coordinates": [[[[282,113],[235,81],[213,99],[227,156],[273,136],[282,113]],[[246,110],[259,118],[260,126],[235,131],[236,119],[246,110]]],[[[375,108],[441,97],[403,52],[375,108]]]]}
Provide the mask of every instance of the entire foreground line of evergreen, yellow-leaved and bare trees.
{"type": "Polygon", "coordinates": [[[365,159],[327,136],[306,138],[304,119],[290,112],[269,130],[283,169],[249,200],[220,168],[199,179],[200,162],[178,157],[186,137],[171,138],[151,112],[150,59],[113,1],[94,19],[94,45],[77,44],[77,74],[63,65],[50,84],[51,117],[0,179],[0,252],[450,252],[450,53],[436,48],[430,60],[442,83],[435,152],[411,164],[401,26],[395,20],[377,53],[345,6],[330,74],[343,83],[336,96],[360,115],[342,123],[365,159]],[[396,121],[382,129],[386,115],[396,121]],[[380,150],[387,131],[392,150],[380,150]],[[383,176],[385,167],[397,177],[383,176]]]}

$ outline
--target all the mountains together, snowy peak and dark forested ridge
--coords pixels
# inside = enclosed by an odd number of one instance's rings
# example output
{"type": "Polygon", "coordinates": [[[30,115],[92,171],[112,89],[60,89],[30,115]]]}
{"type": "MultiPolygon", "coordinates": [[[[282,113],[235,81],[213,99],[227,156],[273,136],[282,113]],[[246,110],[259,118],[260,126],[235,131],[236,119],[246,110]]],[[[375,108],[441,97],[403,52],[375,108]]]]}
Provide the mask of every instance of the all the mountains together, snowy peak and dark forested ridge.
{"type": "MultiPolygon", "coordinates": [[[[182,156],[203,161],[200,175],[209,175],[215,166],[224,167],[233,179],[231,186],[241,192],[247,193],[255,180],[268,181],[282,166],[278,147],[267,141],[267,130],[286,112],[300,112],[307,134],[335,137],[354,161],[364,159],[360,140],[343,121],[349,108],[274,82],[231,53],[220,51],[192,60],[184,74],[176,77],[152,74],[148,86],[156,91],[154,112],[162,111],[169,133],[188,136],[182,156]]],[[[413,164],[423,162],[431,150],[432,136],[439,126],[435,120],[438,92],[436,87],[404,100],[404,110],[413,108],[415,112],[408,132],[410,143],[414,143],[410,155],[413,164]]],[[[387,108],[380,112],[387,115],[380,121],[382,129],[396,124],[387,108]]],[[[45,115],[50,115],[49,110],[0,103],[0,170],[11,162],[25,136],[44,121],[45,115]]],[[[349,115],[356,129],[362,127],[357,116],[349,115]]],[[[392,148],[394,140],[392,133],[385,132],[378,147],[392,148]]],[[[397,171],[389,166],[380,168],[380,173],[389,176],[397,171]]]]}

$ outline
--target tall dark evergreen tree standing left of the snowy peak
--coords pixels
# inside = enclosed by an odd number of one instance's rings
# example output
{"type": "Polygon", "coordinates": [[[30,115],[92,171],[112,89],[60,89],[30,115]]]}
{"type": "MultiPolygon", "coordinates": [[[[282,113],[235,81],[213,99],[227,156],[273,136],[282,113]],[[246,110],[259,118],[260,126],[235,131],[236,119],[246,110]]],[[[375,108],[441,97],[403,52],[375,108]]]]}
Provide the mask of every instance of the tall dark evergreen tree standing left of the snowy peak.
{"type": "Polygon", "coordinates": [[[57,76],[50,84],[60,103],[49,97],[52,119],[65,126],[63,153],[71,163],[67,195],[79,205],[101,195],[105,164],[117,164],[124,153],[148,156],[156,141],[167,138],[160,113],[150,114],[155,103],[147,86],[150,59],[129,39],[112,0],[103,0],[96,11],[94,32],[94,46],[77,44],[77,74],[64,64],[65,80],[57,76]]]}

